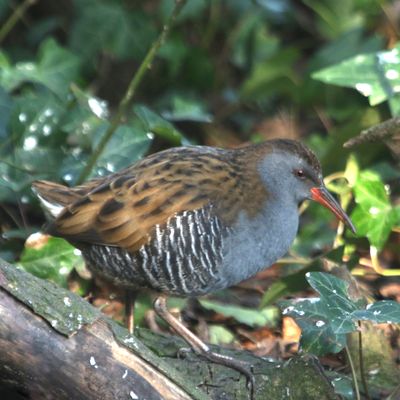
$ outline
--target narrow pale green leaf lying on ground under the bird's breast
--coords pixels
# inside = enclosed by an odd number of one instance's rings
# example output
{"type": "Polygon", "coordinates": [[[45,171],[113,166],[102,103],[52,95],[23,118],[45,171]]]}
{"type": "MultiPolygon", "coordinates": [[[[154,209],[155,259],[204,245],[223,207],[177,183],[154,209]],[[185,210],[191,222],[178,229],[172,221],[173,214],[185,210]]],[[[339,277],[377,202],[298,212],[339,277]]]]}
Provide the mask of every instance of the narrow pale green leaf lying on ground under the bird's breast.
{"type": "Polygon", "coordinates": [[[236,321],[248,326],[273,326],[278,316],[276,307],[253,310],[209,300],[200,300],[200,304],[207,310],[234,318],[236,321]]]}

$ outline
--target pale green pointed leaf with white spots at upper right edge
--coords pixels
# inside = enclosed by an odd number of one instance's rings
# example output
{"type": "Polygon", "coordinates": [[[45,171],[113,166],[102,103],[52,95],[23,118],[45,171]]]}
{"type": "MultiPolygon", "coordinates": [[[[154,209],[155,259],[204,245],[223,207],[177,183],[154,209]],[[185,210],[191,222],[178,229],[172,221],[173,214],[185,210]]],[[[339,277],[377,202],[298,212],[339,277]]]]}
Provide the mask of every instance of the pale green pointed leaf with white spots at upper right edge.
{"type": "Polygon", "coordinates": [[[400,45],[397,45],[389,51],[359,54],[317,71],[312,77],[326,83],[355,88],[369,98],[372,106],[389,100],[392,114],[397,115],[396,107],[400,102],[399,51],[400,45]]]}

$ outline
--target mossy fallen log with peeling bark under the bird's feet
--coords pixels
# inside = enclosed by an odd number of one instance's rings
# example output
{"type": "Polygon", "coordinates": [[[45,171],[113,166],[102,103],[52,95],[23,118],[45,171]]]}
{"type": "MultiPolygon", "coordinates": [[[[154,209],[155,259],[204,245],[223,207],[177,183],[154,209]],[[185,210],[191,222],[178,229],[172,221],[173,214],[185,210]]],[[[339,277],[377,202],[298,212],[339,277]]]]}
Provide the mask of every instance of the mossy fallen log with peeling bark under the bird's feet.
{"type": "MultiPolygon", "coordinates": [[[[2,260],[0,288],[2,399],[248,398],[236,371],[192,353],[177,358],[180,338],[129,335],[80,297],[2,260]]],[[[253,365],[256,399],[340,398],[313,357],[274,362],[214,350],[253,365]]]]}

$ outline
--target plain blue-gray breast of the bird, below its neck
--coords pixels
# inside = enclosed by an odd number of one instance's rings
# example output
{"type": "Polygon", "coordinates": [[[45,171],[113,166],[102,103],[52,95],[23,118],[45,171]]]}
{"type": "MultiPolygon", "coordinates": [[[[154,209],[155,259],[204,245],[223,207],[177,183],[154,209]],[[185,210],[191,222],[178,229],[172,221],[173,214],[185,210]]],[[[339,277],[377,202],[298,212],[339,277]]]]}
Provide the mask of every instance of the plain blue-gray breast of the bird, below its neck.
{"type": "Polygon", "coordinates": [[[250,278],[284,256],[296,237],[298,223],[295,204],[271,203],[254,218],[240,214],[224,240],[221,273],[226,286],[250,278]]]}

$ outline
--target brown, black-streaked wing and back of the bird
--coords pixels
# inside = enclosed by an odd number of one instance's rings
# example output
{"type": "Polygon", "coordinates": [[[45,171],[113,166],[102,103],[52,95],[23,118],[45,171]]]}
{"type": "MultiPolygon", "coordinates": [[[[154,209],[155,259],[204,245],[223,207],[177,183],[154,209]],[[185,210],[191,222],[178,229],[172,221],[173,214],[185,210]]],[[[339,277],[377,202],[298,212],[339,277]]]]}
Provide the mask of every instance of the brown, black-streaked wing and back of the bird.
{"type": "MultiPolygon", "coordinates": [[[[70,189],[81,197],[67,205],[49,233],[73,241],[105,244],[131,252],[171,216],[215,205],[232,222],[245,202],[240,163],[232,151],[209,147],[166,150],[124,171],[70,189]]],[[[243,177],[242,177],[243,178],[243,177]]],[[[254,197],[254,193],[250,193],[254,197]]]]}

